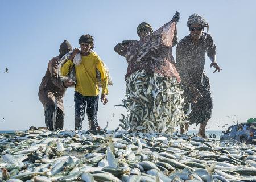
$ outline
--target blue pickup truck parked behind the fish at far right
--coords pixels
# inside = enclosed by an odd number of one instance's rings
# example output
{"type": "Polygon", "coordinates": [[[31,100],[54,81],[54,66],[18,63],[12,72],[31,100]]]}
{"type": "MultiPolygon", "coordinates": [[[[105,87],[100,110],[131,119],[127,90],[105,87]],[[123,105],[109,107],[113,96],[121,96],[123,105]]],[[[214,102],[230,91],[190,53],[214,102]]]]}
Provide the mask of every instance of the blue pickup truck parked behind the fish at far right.
{"type": "Polygon", "coordinates": [[[220,136],[220,140],[236,140],[241,143],[256,143],[256,123],[237,123],[232,125],[226,131],[222,131],[224,135],[220,136]]]}

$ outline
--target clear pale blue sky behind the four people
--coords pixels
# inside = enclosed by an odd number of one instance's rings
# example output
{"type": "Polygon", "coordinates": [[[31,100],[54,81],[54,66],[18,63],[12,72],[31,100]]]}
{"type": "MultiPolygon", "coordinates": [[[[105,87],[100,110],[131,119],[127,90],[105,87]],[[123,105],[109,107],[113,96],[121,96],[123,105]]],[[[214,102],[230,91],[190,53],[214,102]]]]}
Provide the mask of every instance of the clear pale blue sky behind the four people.
{"type": "MultiPolygon", "coordinates": [[[[222,130],[225,124],[246,122],[256,117],[256,1],[0,1],[0,130],[27,130],[43,127],[44,110],[38,98],[40,82],[48,61],[59,55],[67,39],[79,48],[83,34],[94,37],[94,51],[108,66],[114,85],[109,86],[108,104],[99,103],[98,123],[109,122],[108,129],[119,125],[125,96],[127,62],[114,52],[122,40],[138,40],[137,26],[148,22],[154,30],[180,12],[177,23],[179,40],[189,34],[186,22],[193,13],[209,23],[209,34],[217,47],[217,62],[223,69],[213,73],[210,60],[205,71],[210,78],[213,97],[208,130],[222,130]],[[5,68],[9,73],[3,73],[5,68]],[[217,126],[217,122],[221,127],[217,126]]],[[[176,47],[173,48],[175,57],[176,47]]],[[[64,129],[75,125],[74,89],[64,97],[64,129]]],[[[82,123],[88,129],[88,119],[82,123]]],[[[198,129],[192,125],[191,130],[198,129]]]]}

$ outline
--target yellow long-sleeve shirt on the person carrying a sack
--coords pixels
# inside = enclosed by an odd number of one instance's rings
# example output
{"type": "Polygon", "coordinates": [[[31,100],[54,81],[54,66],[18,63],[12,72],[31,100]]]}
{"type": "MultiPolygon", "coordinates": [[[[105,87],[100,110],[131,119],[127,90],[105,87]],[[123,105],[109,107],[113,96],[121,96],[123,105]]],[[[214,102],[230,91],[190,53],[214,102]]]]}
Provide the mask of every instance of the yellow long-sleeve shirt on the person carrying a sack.
{"type": "MultiPolygon", "coordinates": [[[[82,56],[81,64],[75,66],[76,70],[76,86],[75,91],[83,96],[97,96],[100,93],[98,82],[96,79],[96,69],[101,73],[102,94],[108,92],[108,76],[102,64],[100,56],[95,52],[90,52],[88,56],[82,56]]],[[[68,60],[61,67],[61,75],[66,76],[69,73],[69,68],[73,66],[73,62],[68,60]]]]}

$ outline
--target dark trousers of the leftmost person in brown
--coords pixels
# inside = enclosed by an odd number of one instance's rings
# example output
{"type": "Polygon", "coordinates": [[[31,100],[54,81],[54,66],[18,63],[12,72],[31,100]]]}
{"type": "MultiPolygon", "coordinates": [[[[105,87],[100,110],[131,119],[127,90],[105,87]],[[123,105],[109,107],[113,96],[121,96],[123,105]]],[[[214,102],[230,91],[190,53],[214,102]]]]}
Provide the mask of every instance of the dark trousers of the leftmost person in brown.
{"type": "Polygon", "coordinates": [[[64,113],[55,105],[48,105],[44,110],[45,123],[48,130],[61,129],[63,130],[64,125],[64,113]]]}

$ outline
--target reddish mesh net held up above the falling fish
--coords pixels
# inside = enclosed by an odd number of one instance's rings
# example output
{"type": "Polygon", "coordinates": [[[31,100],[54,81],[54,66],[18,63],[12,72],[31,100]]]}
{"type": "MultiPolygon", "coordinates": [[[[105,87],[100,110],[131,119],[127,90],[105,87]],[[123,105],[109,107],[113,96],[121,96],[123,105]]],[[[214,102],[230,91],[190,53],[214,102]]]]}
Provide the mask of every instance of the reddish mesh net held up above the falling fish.
{"type": "Polygon", "coordinates": [[[172,40],[176,22],[170,21],[148,36],[145,43],[133,42],[126,53],[128,62],[127,74],[145,69],[147,73],[159,73],[166,77],[176,77],[180,82],[180,76],[174,64],[172,56],[172,40]]]}

